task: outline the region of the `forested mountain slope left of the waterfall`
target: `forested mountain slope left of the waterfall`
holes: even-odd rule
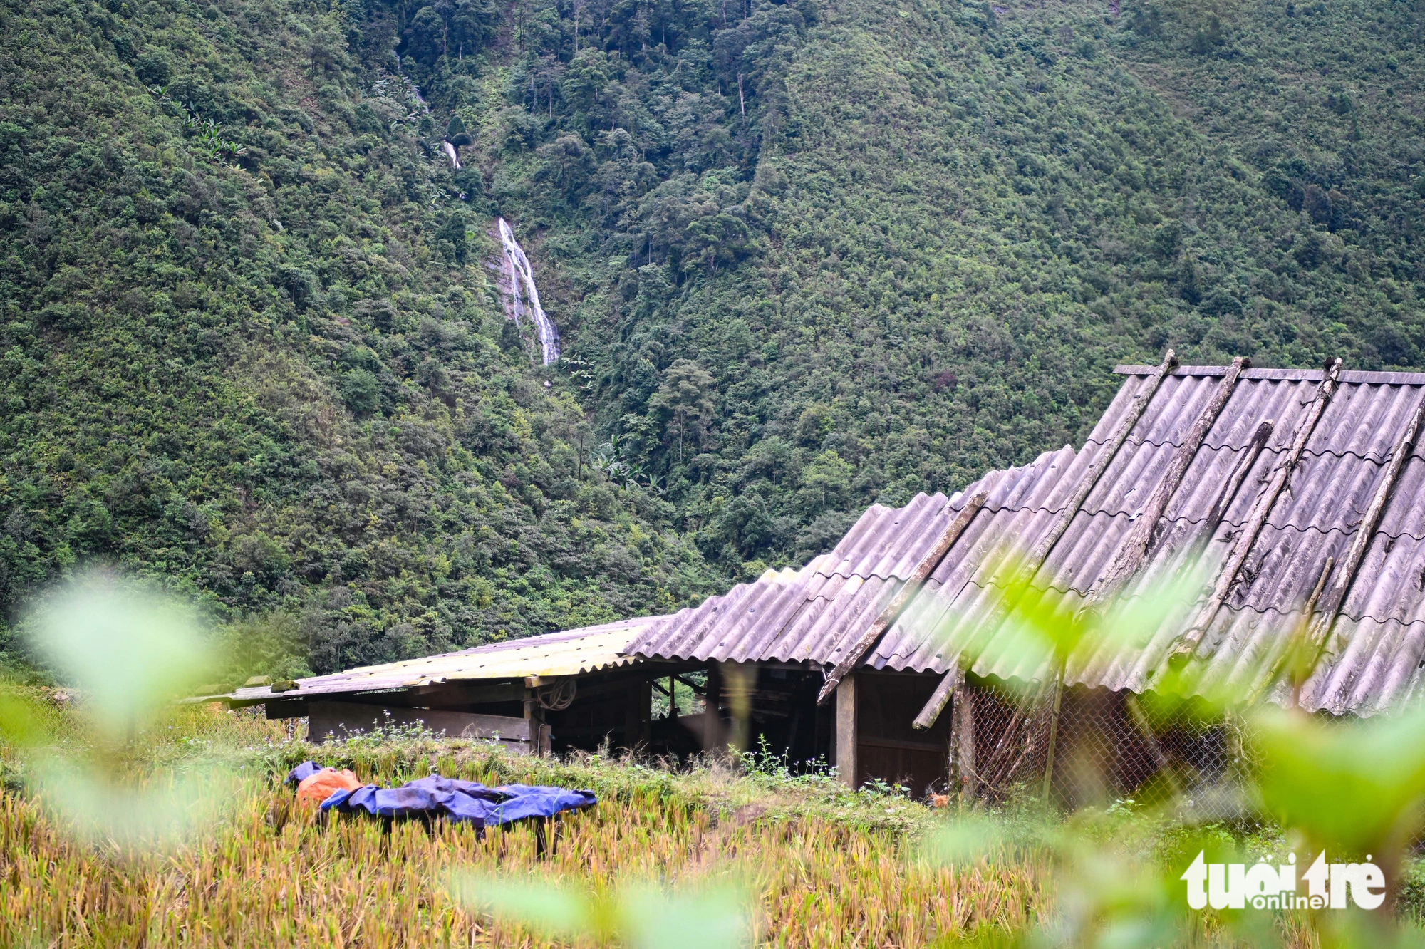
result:
[[[681,606],[714,577],[590,477],[486,222],[341,24],[6,9],[0,601],[100,557],[318,670]]]

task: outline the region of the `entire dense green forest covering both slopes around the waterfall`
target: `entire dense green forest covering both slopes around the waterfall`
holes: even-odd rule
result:
[[[664,611],[1080,439],[1120,361],[1418,366],[1421,23],[6,0],[4,628],[91,560],[234,675]]]

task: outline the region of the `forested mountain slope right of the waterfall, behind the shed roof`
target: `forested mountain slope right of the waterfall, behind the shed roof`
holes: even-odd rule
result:
[[[1082,437],[1167,345],[1421,359],[1418,4],[762,6],[567,67],[557,24],[484,87],[519,105],[450,105],[712,559]]]

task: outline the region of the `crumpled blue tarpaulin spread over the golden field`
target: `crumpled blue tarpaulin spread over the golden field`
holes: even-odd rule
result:
[[[288,781],[301,782],[304,777],[318,769],[318,765],[308,761],[294,768]],[[368,784],[355,791],[336,791],[322,801],[322,811],[341,814],[365,811],[372,816],[396,819],[429,815],[472,822],[476,826],[500,826],[532,816],[549,818],[596,804],[598,798],[591,791],[530,784],[487,788],[475,781],[430,775],[408,781],[399,788],[378,788]]]

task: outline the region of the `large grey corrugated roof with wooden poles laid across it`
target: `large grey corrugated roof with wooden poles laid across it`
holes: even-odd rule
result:
[[[1183,366],[1153,392],[1156,366],[1120,366],[1126,375],[1093,433],[1077,452],[1064,446],[1032,463],[992,472],[953,497],[918,496],[906,507],[871,507],[836,549],[798,571],[770,571],[725,597],[651,624],[630,645],[641,655],[698,660],[804,660],[832,665],[891,601],[965,499],[988,492],[980,512],[955,540],[899,618],[866,654],[875,668],[943,673],[950,664],[980,675],[1045,680],[1050,655],[1006,626],[1002,591],[1042,537],[1067,517],[1066,504],[1112,450],[1120,423],[1150,398],[1126,440],[1033,581],[1066,616],[1103,577],[1168,462],[1223,385],[1223,366]],[[1124,588],[1133,601],[1146,577],[1200,576],[1210,587],[1267,490],[1298,430],[1310,419],[1325,373],[1245,369],[1191,456],[1154,530],[1147,557]],[[1247,557],[1194,653],[1203,688],[1251,697],[1271,694],[1291,630],[1298,628],[1328,559],[1335,574],[1362,514],[1382,486],[1391,455],[1422,410],[1425,375],[1341,372],[1338,386],[1304,443],[1285,489],[1247,547]],[[1271,437],[1223,497],[1234,469],[1250,457],[1260,423]],[[1302,702],[1332,712],[1371,714],[1409,694],[1425,658],[1425,447],[1416,440],[1389,503],[1341,603],[1334,633]],[[1210,512],[1221,503],[1218,523]],[[1194,573],[1196,571],[1196,573]],[[1204,588],[1198,606],[1206,600]],[[1196,614],[1183,604],[1146,641],[1084,644],[1066,664],[1069,683],[1141,691],[1164,674],[1167,657]],[[1280,697],[1280,691],[1277,693]]]

